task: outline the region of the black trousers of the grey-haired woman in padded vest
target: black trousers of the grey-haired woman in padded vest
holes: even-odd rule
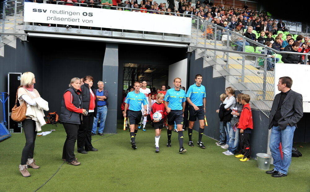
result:
[[[64,149],[62,150],[62,159],[71,162],[75,160],[74,146],[78,138],[78,124],[64,123],[64,129],[67,133],[66,141],[64,141]]]

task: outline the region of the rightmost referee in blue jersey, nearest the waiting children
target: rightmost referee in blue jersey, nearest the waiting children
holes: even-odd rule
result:
[[[202,134],[205,128],[205,113],[206,113],[206,88],[201,85],[202,76],[197,74],[195,76],[195,84],[191,85],[188,88],[186,94],[186,100],[189,104],[188,113],[189,113],[189,126],[188,126],[188,145],[193,147],[192,134],[193,134],[193,126],[196,119],[199,120],[199,136],[197,145],[199,145],[202,149],[206,148],[201,142]]]

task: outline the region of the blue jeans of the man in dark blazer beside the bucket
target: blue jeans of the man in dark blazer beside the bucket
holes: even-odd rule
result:
[[[281,130],[278,126],[272,127],[270,136],[270,151],[273,158],[274,170],[283,174],[287,174],[292,159],[292,146],[295,126],[286,126],[286,129]],[[283,159],[279,150],[279,145],[282,145]]]

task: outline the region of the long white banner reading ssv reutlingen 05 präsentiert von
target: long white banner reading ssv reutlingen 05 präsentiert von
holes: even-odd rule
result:
[[[24,22],[191,35],[192,18],[25,2]]]

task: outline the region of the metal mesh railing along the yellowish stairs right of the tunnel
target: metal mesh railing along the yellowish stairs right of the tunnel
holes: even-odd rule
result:
[[[193,48],[200,49],[199,55],[229,83],[240,92],[249,94],[251,102],[268,117],[274,98],[272,68],[281,61],[276,58],[282,53],[305,55],[305,58],[307,54],[277,51],[199,17],[193,19]],[[206,34],[207,25],[211,25],[213,35]]]

